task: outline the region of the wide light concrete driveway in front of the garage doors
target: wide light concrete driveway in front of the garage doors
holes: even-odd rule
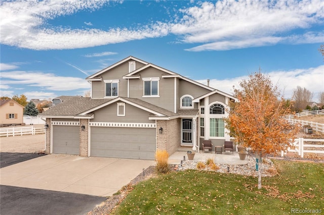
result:
[[[0,169],[1,185],[111,196],[153,160],[50,154]]]

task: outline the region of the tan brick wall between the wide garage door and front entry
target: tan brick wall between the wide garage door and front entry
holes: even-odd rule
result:
[[[159,133],[159,128],[163,133]],[[180,147],[180,119],[156,120],[156,150],[167,150],[171,155]]]

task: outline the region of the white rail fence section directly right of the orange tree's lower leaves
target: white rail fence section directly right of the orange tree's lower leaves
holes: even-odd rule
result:
[[[322,142],[319,145],[305,144],[304,142]],[[288,149],[290,152],[298,152],[298,155],[304,157],[304,153],[324,153],[324,139],[305,139],[300,137],[294,141],[295,149]],[[311,148],[309,148],[311,147]],[[305,149],[307,148],[307,149]],[[281,156],[284,156],[285,152],[281,151]]]

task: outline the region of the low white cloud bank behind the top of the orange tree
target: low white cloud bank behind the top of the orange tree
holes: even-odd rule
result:
[[[324,66],[309,69],[296,69],[291,71],[272,71],[267,73],[274,85],[277,85],[285,98],[291,98],[293,90],[297,86],[305,87],[314,93],[313,100],[317,100],[317,94],[324,91]],[[211,79],[210,86],[223,92],[232,94],[233,86],[239,89],[239,82],[248,79],[247,76],[235,77],[232,79],[218,80]],[[207,80],[197,80],[207,84]]]

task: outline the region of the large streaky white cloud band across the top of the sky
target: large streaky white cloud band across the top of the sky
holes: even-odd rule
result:
[[[139,23],[141,27],[136,29],[71,29],[47,24],[59,16],[96,10],[108,4],[108,0],[3,2],[1,42],[36,50],[73,49],[176,34],[181,42],[203,43],[187,50],[202,51],[317,43],[322,42],[323,36],[319,32],[306,32],[323,23],[324,1],[316,0],[197,2],[195,7],[179,10],[173,21]],[[289,35],[292,30],[300,29],[305,32]]]

